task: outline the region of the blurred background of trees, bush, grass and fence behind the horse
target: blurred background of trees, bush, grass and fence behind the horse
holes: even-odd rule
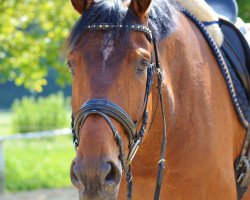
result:
[[[238,4],[250,23],[250,0]],[[60,52],[78,17],[69,0],[0,0],[1,200],[76,199],[69,179],[71,78]],[[66,135],[42,137],[57,133]]]

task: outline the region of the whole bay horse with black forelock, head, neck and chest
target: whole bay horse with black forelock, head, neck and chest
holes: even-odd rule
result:
[[[71,1],[81,14],[65,48],[79,199],[237,199],[234,161],[246,131],[196,25],[172,0]],[[161,72],[149,80],[154,63]]]

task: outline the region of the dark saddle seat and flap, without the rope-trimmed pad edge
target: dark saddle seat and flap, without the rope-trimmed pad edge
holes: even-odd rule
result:
[[[248,97],[250,105],[250,48],[241,31],[234,25],[238,16],[235,0],[206,0],[222,17],[219,26],[224,34],[221,46],[222,55],[227,65],[237,74]]]

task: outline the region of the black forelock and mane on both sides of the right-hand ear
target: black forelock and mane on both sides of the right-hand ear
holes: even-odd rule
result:
[[[70,52],[82,37],[88,25],[138,24],[133,13],[124,6],[124,0],[96,0],[95,3],[80,17],[74,25],[65,44],[65,51]],[[154,32],[157,40],[167,37],[175,30],[174,15],[177,4],[173,0],[152,0],[149,14],[149,28]],[[113,30],[118,34],[119,30]],[[66,53],[67,54],[67,53]]]

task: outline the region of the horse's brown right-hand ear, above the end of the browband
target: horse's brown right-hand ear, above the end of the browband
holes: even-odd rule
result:
[[[146,16],[152,0],[131,0],[130,8],[140,19]]]

